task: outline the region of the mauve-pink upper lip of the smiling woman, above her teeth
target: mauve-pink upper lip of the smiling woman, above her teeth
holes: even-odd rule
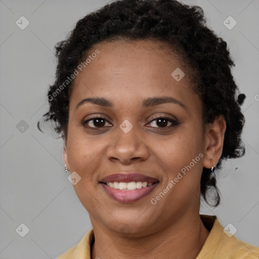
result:
[[[100,180],[101,183],[112,183],[112,182],[124,182],[124,183],[131,183],[131,182],[147,182],[155,183],[158,182],[157,179],[139,174],[137,172],[125,173],[125,172],[118,172],[113,175],[106,176]]]

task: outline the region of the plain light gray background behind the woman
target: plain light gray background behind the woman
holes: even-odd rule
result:
[[[235,226],[238,238],[259,246],[259,1],[184,2],[201,6],[208,26],[228,42],[236,83],[247,96],[242,106],[246,154],[224,164],[219,179],[222,203],[216,209],[203,204],[201,213],[216,214],[224,227]],[[36,123],[47,111],[46,95],[56,66],[54,45],[76,21],[104,4],[0,1],[1,259],[56,258],[91,228],[88,212],[64,171],[62,140],[53,138],[48,128],[49,134],[40,133]],[[30,22],[24,30],[16,25],[21,16]],[[231,30],[223,24],[228,16],[237,21]],[[29,228],[23,238],[16,232],[21,223]]]

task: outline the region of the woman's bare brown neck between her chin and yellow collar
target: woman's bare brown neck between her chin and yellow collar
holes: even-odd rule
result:
[[[209,231],[200,215],[183,215],[159,232],[146,236],[126,237],[93,224],[95,243],[91,258],[190,258],[195,259]]]

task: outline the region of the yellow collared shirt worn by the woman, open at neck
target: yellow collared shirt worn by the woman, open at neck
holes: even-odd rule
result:
[[[196,259],[259,259],[259,247],[249,245],[234,235],[229,237],[217,217],[200,215],[210,233]],[[94,230],[91,229],[81,241],[57,259],[91,259]]]

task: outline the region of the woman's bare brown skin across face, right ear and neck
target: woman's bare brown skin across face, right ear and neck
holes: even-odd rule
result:
[[[201,172],[212,167],[210,158],[218,163],[226,122],[219,117],[203,132],[201,101],[191,88],[185,65],[161,42],[103,42],[89,53],[96,49],[100,54],[74,79],[64,140],[64,162],[81,177],[74,189],[95,231],[92,258],[196,258],[209,234],[199,216]],[[171,76],[176,68],[185,72],[180,81]],[[179,100],[185,108],[175,103],[141,105],[146,98],[162,96]],[[76,109],[89,97],[105,98],[113,107],[84,103]],[[104,118],[104,127],[93,120],[83,126],[90,115]],[[167,127],[161,127],[157,115],[177,119],[179,124],[168,121]],[[128,133],[119,127],[124,120],[133,125]],[[199,153],[203,157],[151,204]],[[99,181],[119,171],[136,171],[158,179],[159,184],[138,201],[118,202]]]

